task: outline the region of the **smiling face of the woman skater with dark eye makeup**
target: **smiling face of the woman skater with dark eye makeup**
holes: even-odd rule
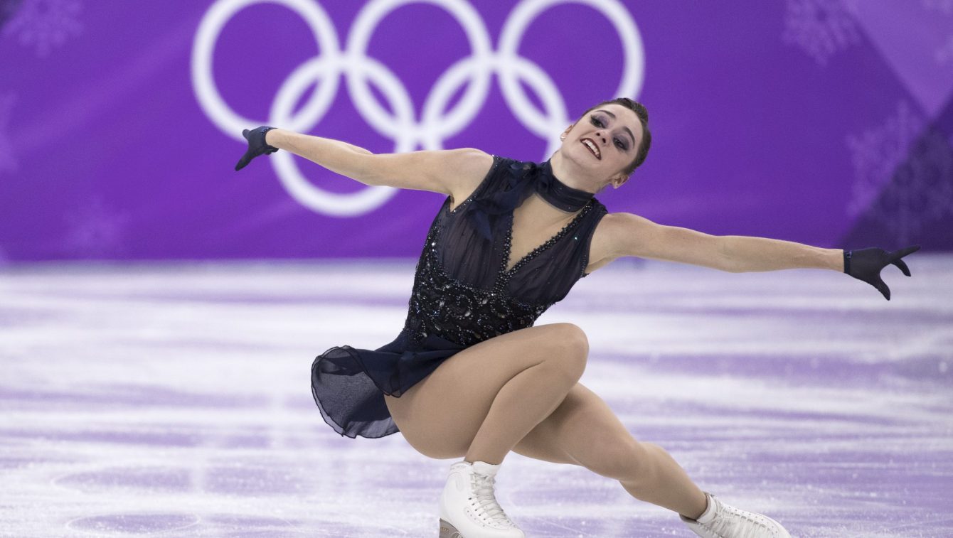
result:
[[[621,185],[628,168],[636,159],[642,137],[642,124],[636,112],[617,105],[590,110],[564,133],[562,158],[573,173],[591,186],[607,182]]]

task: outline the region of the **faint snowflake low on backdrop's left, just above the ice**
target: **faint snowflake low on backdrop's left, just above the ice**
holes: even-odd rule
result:
[[[102,196],[93,196],[66,215],[65,247],[87,256],[113,254],[123,247],[129,216],[108,208]]]

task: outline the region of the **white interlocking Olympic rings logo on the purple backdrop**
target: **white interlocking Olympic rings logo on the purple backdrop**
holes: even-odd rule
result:
[[[319,56],[297,67],[281,85],[269,117],[246,118],[224,101],[213,78],[213,50],[222,29],[240,10],[253,4],[280,4],[299,14],[311,27]],[[457,61],[437,79],[423,106],[422,118],[416,113],[410,94],[395,76],[375,58],[366,54],[371,34],[391,11],[415,3],[433,4],[448,11],[466,32],[471,55]],[[517,55],[523,34],[543,11],[558,4],[582,4],[598,10],[615,26],[624,52],[621,81],[613,96],[638,95],[644,75],[644,50],[639,30],[632,15],[618,0],[523,0],[510,12],[499,37],[497,50],[491,48],[490,36],[479,13],[466,0],[372,0],[361,9],[348,34],[347,47],[338,47],[337,32],[327,12],[316,0],[217,0],[202,17],[192,50],[192,82],[195,95],[205,113],[226,135],[245,142],[241,130],[257,125],[275,125],[299,132],[310,132],[320,122],[334,101],[339,76],[347,78],[348,93],[356,110],[374,130],[394,140],[394,152],[442,149],[443,140],[465,129],[486,101],[490,77],[497,74],[507,107],[528,130],[548,141],[547,153],[559,146],[556,133],[572,119],[552,78],[537,64]],[[374,82],[394,113],[377,102],[368,86]],[[528,84],[545,109],[539,114],[519,85]],[[456,107],[441,114],[463,84],[470,83]],[[294,105],[305,90],[316,89],[297,113]],[[318,189],[294,164],[288,151],[270,157],[285,189],[300,204],[317,212],[354,216],[384,204],[396,189],[369,187],[340,194]]]

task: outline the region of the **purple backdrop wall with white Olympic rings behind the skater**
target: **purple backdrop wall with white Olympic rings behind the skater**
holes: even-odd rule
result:
[[[821,247],[953,249],[953,1],[382,6],[0,0],[0,260],[415,256],[441,195],[360,202],[363,186],[283,152],[234,172],[233,126],[542,161],[582,110],[625,91],[654,146],[599,195],[612,211]],[[425,117],[438,87],[451,109],[476,90],[469,109]],[[286,187],[294,169],[303,194]],[[352,214],[321,209],[349,193],[333,206]]]

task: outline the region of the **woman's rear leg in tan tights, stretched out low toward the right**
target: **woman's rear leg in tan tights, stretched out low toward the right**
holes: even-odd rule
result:
[[[598,395],[577,383],[546,419],[521,439],[518,454],[574,463],[619,481],[633,497],[698,518],[707,506],[701,489],[654,443],[637,441]],[[570,461],[566,461],[566,458]]]

